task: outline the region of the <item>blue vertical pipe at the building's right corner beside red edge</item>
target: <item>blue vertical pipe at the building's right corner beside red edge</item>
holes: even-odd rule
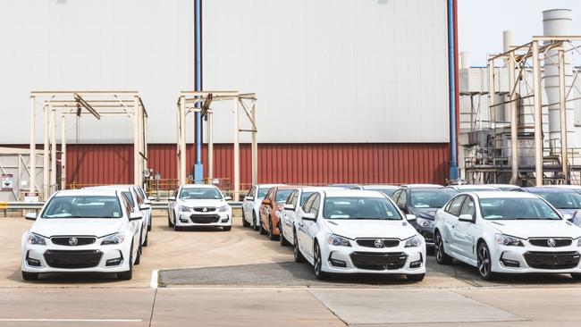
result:
[[[448,0],[448,67],[450,80],[450,180],[458,179],[458,147],[456,130],[456,63],[454,47],[454,4]]]

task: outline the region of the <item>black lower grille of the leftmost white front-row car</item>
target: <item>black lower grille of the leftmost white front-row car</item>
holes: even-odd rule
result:
[[[98,250],[47,250],[46,264],[53,268],[80,269],[96,267],[103,253]]]

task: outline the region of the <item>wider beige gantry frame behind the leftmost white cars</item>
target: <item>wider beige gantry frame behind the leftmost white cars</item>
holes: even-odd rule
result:
[[[61,189],[66,188],[66,117],[69,115],[128,116],[133,120],[133,182],[143,184],[147,167],[147,111],[137,91],[32,91],[30,92],[30,157],[36,155],[36,105],[43,104],[43,182],[41,198],[47,199],[57,189],[56,129],[61,118]],[[30,162],[34,172],[36,163]],[[30,185],[35,185],[30,176]],[[32,192],[33,189],[30,189]],[[36,192],[36,190],[34,190]]]

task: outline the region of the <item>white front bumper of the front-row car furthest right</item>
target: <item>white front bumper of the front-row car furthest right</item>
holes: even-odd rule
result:
[[[581,273],[581,247],[506,247],[491,253],[493,272]]]

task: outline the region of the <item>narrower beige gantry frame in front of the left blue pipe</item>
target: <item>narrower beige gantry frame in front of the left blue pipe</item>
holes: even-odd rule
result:
[[[186,115],[202,113],[207,115],[207,176],[214,179],[214,110],[210,108],[215,101],[232,101],[234,112],[234,201],[240,199],[240,132],[250,132],[252,142],[252,184],[258,180],[258,145],[257,145],[257,95],[254,93],[240,94],[237,91],[182,91],[177,103],[178,122],[178,180],[180,184],[187,183],[186,167]],[[199,104],[199,105],[198,105]],[[250,122],[250,129],[240,129],[240,106]],[[195,138],[194,138],[195,139]]]

